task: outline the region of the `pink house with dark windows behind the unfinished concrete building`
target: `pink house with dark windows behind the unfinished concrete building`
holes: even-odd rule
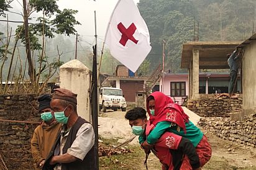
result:
[[[165,73],[165,78],[161,79],[160,86],[162,92],[171,96],[173,101],[183,104],[189,96],[188,73]],[[229,73],[199,73],[199,94],[214,94],[228,92]],[[237,81],[237,91],[241,91],[240,75]]]

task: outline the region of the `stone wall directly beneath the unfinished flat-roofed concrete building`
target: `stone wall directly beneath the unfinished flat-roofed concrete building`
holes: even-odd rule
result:
[[[230,100],[230,101],[229,101]],[[227,96],[216,98],[213,94],[201,96],[188,101],[188,109],[201,117],[229,116],[232,112],[242,110],[242,97],[229,99]]]

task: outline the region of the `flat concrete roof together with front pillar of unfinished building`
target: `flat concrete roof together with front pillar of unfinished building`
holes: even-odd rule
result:
[[[181,68],[188,69],[189,99],[199,97],[199,69],[229,69],[227,54],[241,42],[188,42],[183,44]]]

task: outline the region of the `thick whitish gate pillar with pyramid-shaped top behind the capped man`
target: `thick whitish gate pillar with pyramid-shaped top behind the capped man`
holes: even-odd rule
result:
[[[91,122],[89,89],[91,76],[89,69],[79,60],[71,60],[60,66],[60,87],[77,94],[77,112]]]

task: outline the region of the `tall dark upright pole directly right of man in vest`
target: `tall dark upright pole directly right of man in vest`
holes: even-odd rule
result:
[[[95,38],[96,44],[93,47],[93,78],[92,78],[92,96],[91,96],[91,115],[92,115],[92,123],[93,130],[95,133],[95,141],[94,141],[94,168],[95,170],[99,169],[99,153],[98,153],[98,80],[97,80],[97,32],[96,32],[96,11],[94,11],[94,20],[95,20]],[[92,160],[93,161],[93,160]]]

